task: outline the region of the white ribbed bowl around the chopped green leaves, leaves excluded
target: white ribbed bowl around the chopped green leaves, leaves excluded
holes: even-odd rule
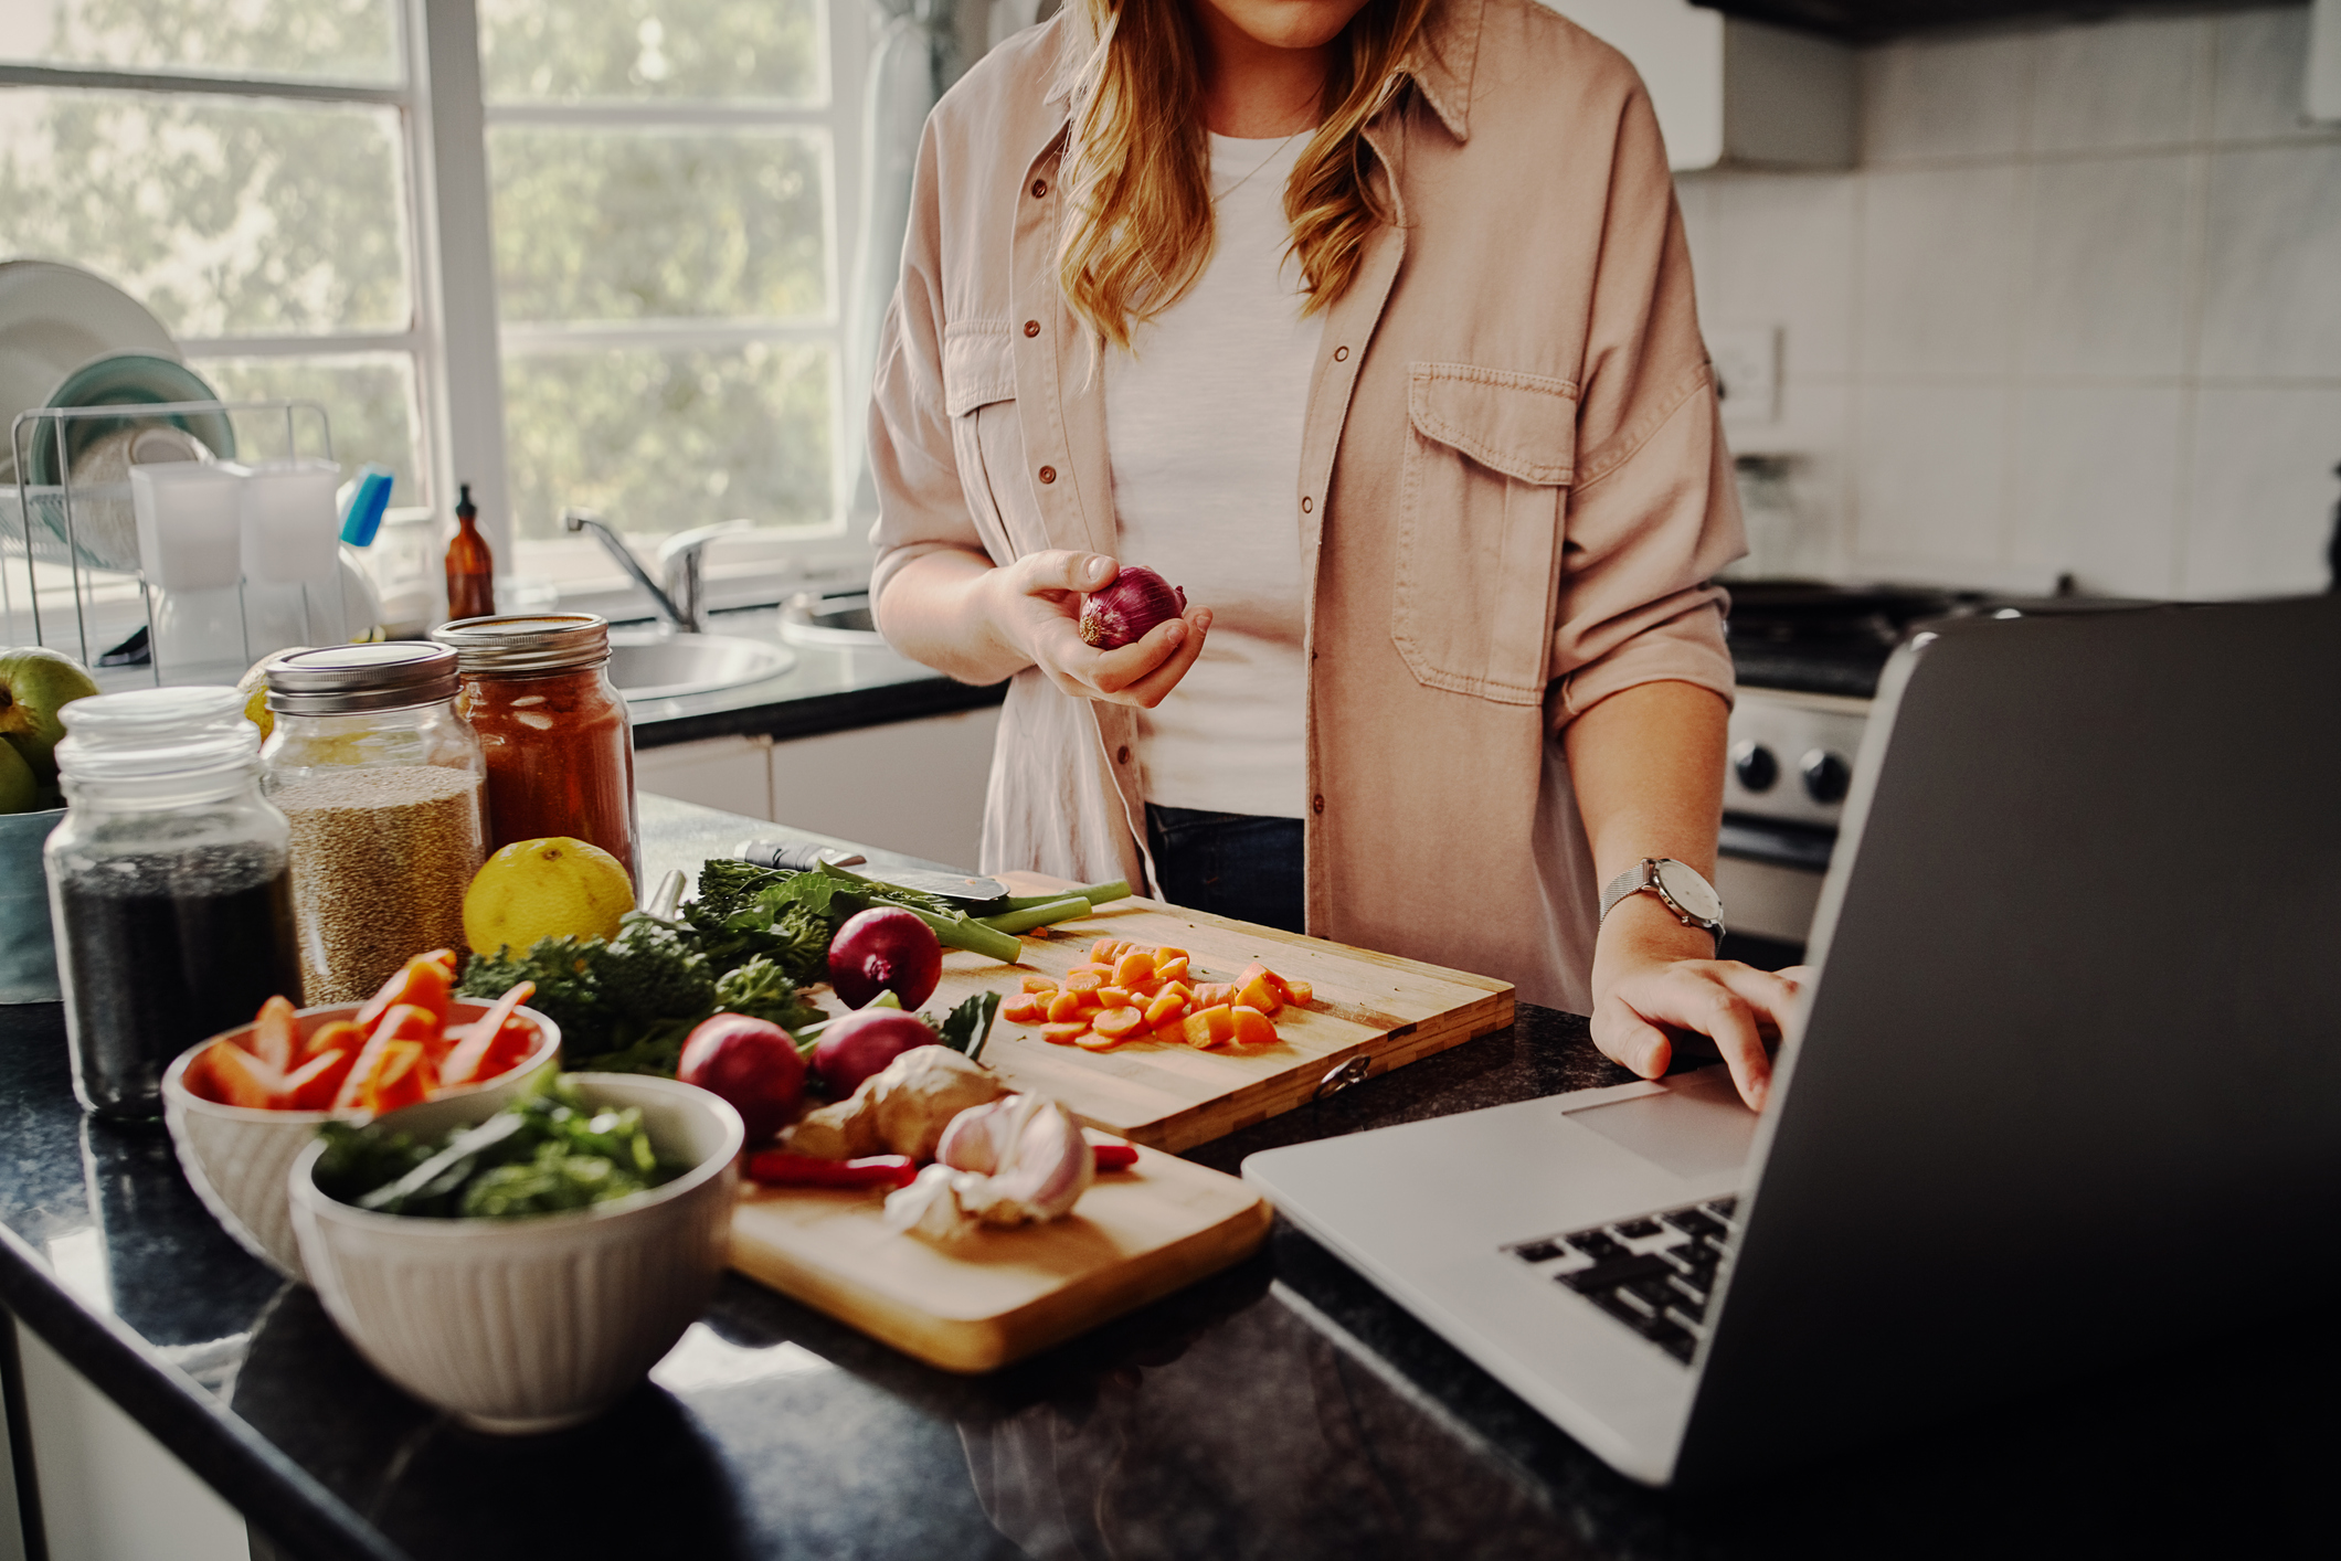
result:
[[[730,1254],[740,1114],[674,1079],[571,1077],[595,1105],[639,1105],[658,1154],[691,1170],[564,1215],[424,1219],[328,1198],[323,1144],[293,1161],[293,1229],[325,1313],[377,1371],[478,1430],[590,1421],[707,1311]],[[445,1098],[382,1121],[435,1140],[494,1109]]]

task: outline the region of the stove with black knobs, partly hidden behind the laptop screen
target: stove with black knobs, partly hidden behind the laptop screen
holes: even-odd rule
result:
[[[1913,630],[1941,618],[2142,606],[2079,594],[2069,580],[2058,585],[2053,597],[2006,597],[1929,585],[1730,583],[1739,700],[1723,775],[1716,892],[1735,934],[1805,943],[1877,679]]]

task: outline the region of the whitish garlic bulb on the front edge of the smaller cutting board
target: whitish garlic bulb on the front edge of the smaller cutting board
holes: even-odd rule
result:
[[[885,1201],[897,1231],[964,1236],[979,1224],[1039,1224],[1072,1210],[1098,1156],[1072,1112],[1042,1095],[1009,1095],[960,1112],[936,1163]]]

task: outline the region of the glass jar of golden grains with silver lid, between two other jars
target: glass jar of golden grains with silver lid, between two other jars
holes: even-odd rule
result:
[[[440,646],[295,651],[267,679],[260,763],[293,824],[302,985],[311,1004],[363,1002],[414,955],[464,948],[487,763]]]

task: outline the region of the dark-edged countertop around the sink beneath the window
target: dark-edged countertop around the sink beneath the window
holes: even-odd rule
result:
[[[637,632],[655,625],[627,623]],[[780,641],[780,608],[714,613],[709,634]],[[796,662],[777,676],[679,700],[627,700],[634,747],[660,749],[707,737],[819,737],[887,721],[918,721],[1000,704],[1007,683],[974,688],[885,646],[787,646]]]

